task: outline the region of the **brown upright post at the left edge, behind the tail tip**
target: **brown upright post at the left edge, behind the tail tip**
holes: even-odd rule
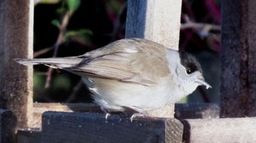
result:
[[[0,108],[10,109],[19,127],[32,122],[32,67],[16,63],[32,58],[33,0],[0,0]]]

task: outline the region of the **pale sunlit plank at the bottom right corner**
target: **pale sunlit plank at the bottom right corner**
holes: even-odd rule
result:
[[[183,123],[186,142],[256,142],[256,118],[187,119]]]

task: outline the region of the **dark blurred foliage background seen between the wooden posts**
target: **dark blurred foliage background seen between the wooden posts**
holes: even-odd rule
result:
[[[34,0],[34,57],[82,55],[124,39],[126,0]],[[220,0],[183,0],[179,49],[196,55],[212,89],[181,102],[219,104]],[[79,76],[34,66],[34,102],[91,102]]]

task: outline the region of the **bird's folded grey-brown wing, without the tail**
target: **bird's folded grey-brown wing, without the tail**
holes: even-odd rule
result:
[[[129,50],[128,50],[129,51]],[[165,57],[143,52],[116,52],[87,58],[68,70],[145,86],[155,85],[158,77],[168,74]]]

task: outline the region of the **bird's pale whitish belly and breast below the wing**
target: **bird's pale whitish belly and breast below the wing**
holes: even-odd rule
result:
[[[109,111],[124,111],[125,107],[148,111],[173,104],[186,96],[170,79],[162,79],[158,86],[143,86],[133,83],[104,79],[84,79],[94,101]],[[100,84],[98,84],[100,83]]]

